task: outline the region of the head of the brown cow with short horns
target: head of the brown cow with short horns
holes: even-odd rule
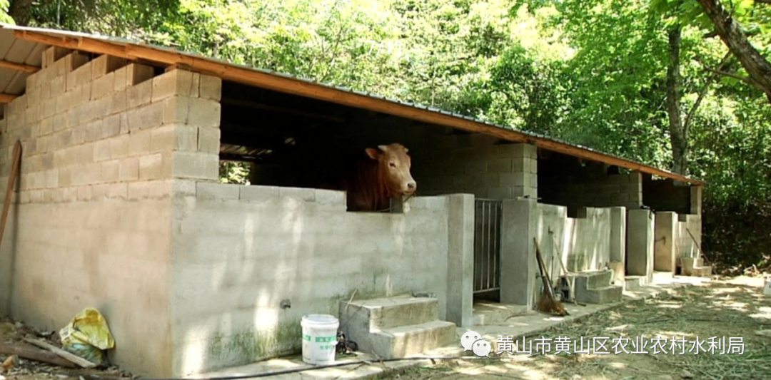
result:
[[[409,149],[401,144],[391,144],[379,145],[377,149],[366,148],[365,152],[378,162],[379,176],[391,194],[412,195],[417,190],[418,184],[409,174],[412,166],[412,160],[407,155]]]

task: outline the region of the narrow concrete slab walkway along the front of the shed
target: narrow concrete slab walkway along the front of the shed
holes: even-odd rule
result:
[[[564,304],[571,315],[565,317],[550,317],[538,312],[530,312],[527,315],[519,315],[507,318],[505,321],[494,322],[493,324],[472,326],[470,328],[457,328],[457,345],[449,345],[438,348],[425,355],[416,355],[418,358],[438,357],[438,358],[456,358],[473,357],[478,358],[470,351],[463,352],[460,345],[460,337],[468,331],[478,332],[487,342],[492,343],[493,350],[497,348],[496,342],[500,336],[510,337],[514,341],[527,335],[534,335],[557,325],[574,322],[581,318],[586,318],[596,312],[614,308],[623,304],[625,301],[638,300],[644,298],[656,297],[664,292],[672,292],[675,288],[683,286],[698,285],[702,282],[709,282],[709,278],[698,278],[688,276],[673,276],[672,278],[658,277],[654,278],[651,284],[635,289],[633,292],[625,291],[621,302],[607,305],[574,305]],[[490,353],[493,356],[493,352]],[[365,363],[362,363],[364,361]],[[368,363],[369,362],[369,363]],[[350,363],[350,364],[346,364]],[[314,379],[362,379],[374,378],[383,375],[385,372],[399,371],[402,369],[415,367],[419,365],[430,365],[429,359],[407,359],[393,362],[379,363],[377,358],[364,353],[357,353],[355,357],[342,358],[336,362],[340,366],[335,368],[310,369],[304,372],[285,373],[274,375],[271,378],[276,380],[308,380]],[[302,362],[301,355],[288,356],[285,358],[276,358],[264,362],[258,362],[251,365],[241,365],[233,368],[225,368],[219,371],[208,372],[201,375],[190,376],[190,378],[210,378],[221,376],[247,376],[261,375],[266,372],[285,372],[289,370],[298,370],[301,368],[313,368],[312,365],[306,365]]]

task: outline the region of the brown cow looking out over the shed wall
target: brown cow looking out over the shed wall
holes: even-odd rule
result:
[[[412,159],[407,152],[401,144],[366,148],[369,159],[356,162],[354,172],[342,181],[348,211],[385,211],[391,198],[414,194],[418,185],[409,173]]]

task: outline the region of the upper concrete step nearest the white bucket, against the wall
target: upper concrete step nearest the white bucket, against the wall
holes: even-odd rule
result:
[[[439,300],[424,297],[388,297],[340,302],[340,319],[372,329],[419,325],[439,319]]]

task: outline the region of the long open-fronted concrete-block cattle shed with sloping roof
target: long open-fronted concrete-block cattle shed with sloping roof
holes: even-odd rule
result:
[[[12,25],[0,28],[0,103],[3,188],[22,147],[0,312],[58,330],[98,308],[110,359],[137,375],[298,352],[301,317],[345,325],[351,299],[436,298],[416,341],[455,345],[455,326],[490,305],[532,312],[536,245],[584,302],[617,301],[654,272],[710,271],[703,182],[463,115]],[[392,142],[409,148],[418,192],[389,212],[348,212],[345,192],[315,185]],[[221,161],[249,162],[250,184],[221,183]],[[343,329],[368,347],[369,332]],[[392,354],[417,345],[397,343]]]

